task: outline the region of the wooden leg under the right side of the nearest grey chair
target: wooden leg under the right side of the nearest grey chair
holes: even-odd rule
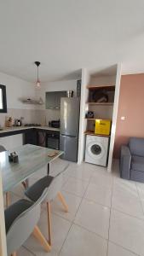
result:
[[[37,240],[41,243],[41,245],[44,247],[46,252],[49,252],[51,250],[51,247],[49,245],[49,242],[46,241],[45,237],[43,236],[42,232],[39,230],[37,226],[35,226],[33,233],[32,233]]]

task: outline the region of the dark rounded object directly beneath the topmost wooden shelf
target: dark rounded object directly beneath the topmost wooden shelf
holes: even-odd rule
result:
[[[108,102],[107,90],[95,90],[92,95],[94,102]]]

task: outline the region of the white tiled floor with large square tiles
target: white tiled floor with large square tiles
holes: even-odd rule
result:
[[[52,174],[60,172],[66,161],[56,160]],[[144,183],[134,183],[114,172],[83,163],[69,163],[61,193],[69,212],[56,198],[51,204],[53,246],[45,253],[30,236],[18,256],[144,256]],[[44,175],[39,172],[31,183]],[[13,194],[14,193],[14,194]],[[23,188],[14,189],[12,201],[23,196]],[[47,212],[43,204],[38,226],[47,237]]]

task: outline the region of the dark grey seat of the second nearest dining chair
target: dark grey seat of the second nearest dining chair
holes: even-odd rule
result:
[[[43,190],[48,188],[54,177],[45,176],[34,183],[30,188],[26,189],[25,195],[32,201],[37,201],[43,194]]]

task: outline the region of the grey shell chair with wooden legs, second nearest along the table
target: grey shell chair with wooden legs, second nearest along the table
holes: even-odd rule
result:
[[[66,168],[65,168],[66,170]],[[62,172],[65,172],[62,171]],[[25,195],[31,201],[37,201],[38,198],[42,195],[43,190],[48,188],[45,201],[47,204],[47,213],[48,213],[48,233],[49,233],[49,245],[51,246],[52,234],[51,234],[51,211],[50,211],[50,202],[58,196],[60,202],[62,203],[65,212],[68,212],[68,207],[63,195],[60,193],[62,187],[62,172],[58,173],[55,177],[45,176],[39,179],[36,183],[25,191]]]

